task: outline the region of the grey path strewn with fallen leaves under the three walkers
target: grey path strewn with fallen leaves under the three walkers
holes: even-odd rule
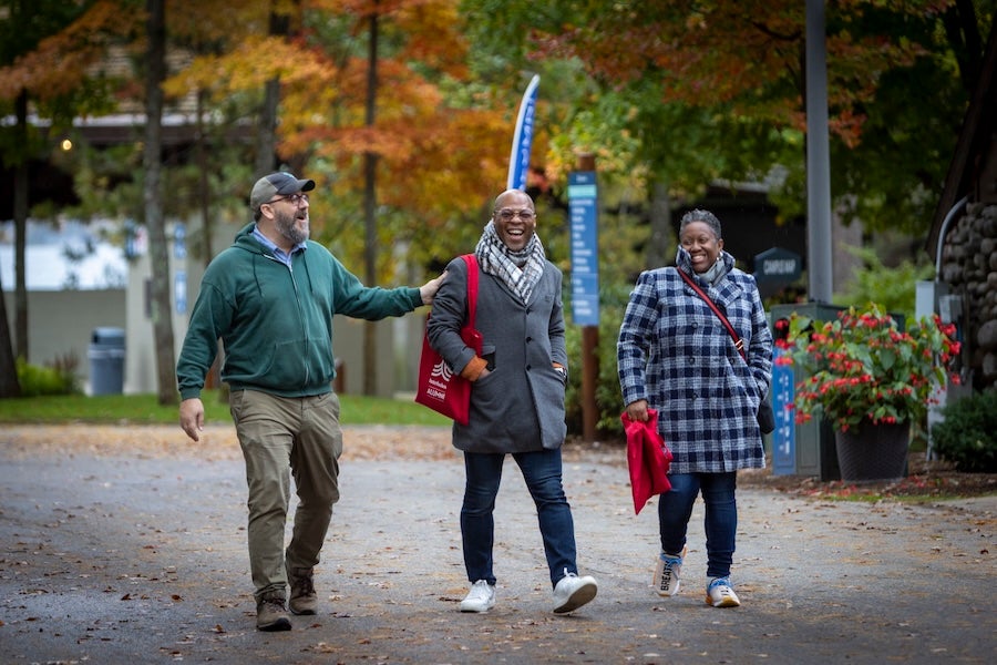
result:
[[[254,628],[245,479],[230,427],[0,433],[3,663],[989,663],[997,498],[927,505],[739,491],[734,582],[702,601],[701,504],[683,591],[650,590],[655,505],[634,515],[619,451],[566,450],[583,573],[549,612],[536,518],[507,464],[498,605],[461,614],[460,457],[445,429],[348,428],[321,607]]]

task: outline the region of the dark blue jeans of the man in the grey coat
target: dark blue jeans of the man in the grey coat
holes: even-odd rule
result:
[[[578,572],[575,564],[575,523],[561,482],[561,449],[516,452],[513,459],[520,466],[536,504],[551,584],[557,584],[565,573]],[[486,580],[489,584],[495,584],[492,571],[492,545],[495,540],[493,512],[504,461],[505,453],[464,453],[466,484],[464,504],[461,507],[461,538],[464,567],[471,582]]]

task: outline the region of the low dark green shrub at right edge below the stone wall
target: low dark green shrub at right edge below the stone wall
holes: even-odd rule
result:
[[[938,456],[963,472],[997,473],[997,390],[946,405],[942,416],[932,427]]]

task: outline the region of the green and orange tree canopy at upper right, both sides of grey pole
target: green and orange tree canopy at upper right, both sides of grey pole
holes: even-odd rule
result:
[[[710,165],[731,181],[762,181],[782,167],[777,203],[787,215],[804,211],[802,3],[562,0],[547,11],[572,22],[537,35],[536,57],[577,59],[607,90],[701,111],[661,125],[661,113],[676,112],[643,105],[651,112],[638,115],[641,135],[658,133],[682,156],[709,145]],[[832,192],[846,219],[927,231],[993,14],[991,1],[829,4]],[[931,93],[914,104],[914,89]],[[709,144],[688,141],[700,135]],[[660,152],[645,154],[652,172],[667,172]]]

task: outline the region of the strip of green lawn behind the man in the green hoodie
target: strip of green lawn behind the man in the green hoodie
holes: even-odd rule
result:
[[[217,391],[202,396],[205,421],[232,422],[228,402]],[[343,424],[446,426],[450,420],[414,401],[340,395]],[[161,406],[155,395],[85,395],[0,399],[0,423],[176,424],[177,406]]]

